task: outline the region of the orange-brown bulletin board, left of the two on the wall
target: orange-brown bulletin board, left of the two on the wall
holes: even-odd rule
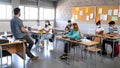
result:
[[[95,22],[96,7],[74,7],[72,8],[72,20],[79,22]]]

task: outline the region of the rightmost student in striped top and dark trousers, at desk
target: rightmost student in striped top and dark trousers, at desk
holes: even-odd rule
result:
[[[118,29],[115,26],[115,22],[114,21],[110,21],[109,22],[109,34],[112,35],[112,36],[116,36],[118,34]],[[103,44],[102,44],[102,54],[104,54],[104,55],[107,54],[106,49],[105,49],[105,43],[108,43],[108,44],[111,45],[112,52],[113,52],[113,46],[114,46],[113,45],[113,40],[112,39],[104,39],[103,40]],[[112,53],[111,53],[111,55],[112,55]]]

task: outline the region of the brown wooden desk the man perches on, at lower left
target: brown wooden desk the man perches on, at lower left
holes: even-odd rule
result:
[[[2,64],[2,50],[6,50],[11,54],[17,54],[24,60],[24,67],[25,67],[25,59],[26,59],[26,46],[25,41],[14,41],[12,43],[3,43],[0,44],[0,58]],[[5,47],[5,48],[2,48]],[[2,68],[2,65],[1,65]]]

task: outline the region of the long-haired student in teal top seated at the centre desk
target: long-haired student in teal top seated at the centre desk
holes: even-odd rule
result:
[[[67,37],[67,38],[71,38],[71,39],[75,39],[75,40],[80,40],[82,36],[81,36],[80,31],[79,31],[77,23],[73,23],[73,29],[69,33],[65,34],[65,36],[63,36],[63,37]],[[62,56],[60,56],[60,59],[67,59],[67,55],[70,52],[69,47],[70,47],[70,45],[68,45],[66,43],[64,46],[64,54]]]

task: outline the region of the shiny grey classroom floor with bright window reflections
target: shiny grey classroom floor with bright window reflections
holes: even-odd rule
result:
[[[37,61],[32,62],[28,57],[25,61],[26,68],[87,68],[86,58],[82,58],[80,55],[80,49],[78,48],[76,51],[76,57],[73,57],[74,50],[71,49],[70,59],[68,61],[60,60],[59,56],[63,53],[63,42],[58,42],[58,46],[55,50],[51,50],[52,44],[49,44],[48,49],[42,49],[40,52],[33,47],[32,52],[34,55],[39,56]],[[89,55],[89,66],[88,68],[94,68],[94,54],[92,56]],[[9,57],[9,65],[5,65],[6,58],[4,59],[3,68],[23,68],[23,60],[17,55],[12,56],[12,66],[11,60]],[[120,68],[120,57],[111,59],[110,57],[102,57],[97,55],[97,66],[96,68]]]

